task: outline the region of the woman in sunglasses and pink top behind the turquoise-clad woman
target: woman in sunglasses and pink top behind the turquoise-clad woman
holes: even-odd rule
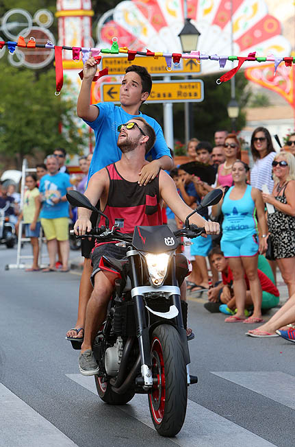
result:
[[[241,158],[240,141],[235,134],[228,134],[225,138],[224,145],[225,162],[219,165],[217,171],[217,187],[231,186],[233,184],[233,176],[231,175],[231,168],[235,160]]]

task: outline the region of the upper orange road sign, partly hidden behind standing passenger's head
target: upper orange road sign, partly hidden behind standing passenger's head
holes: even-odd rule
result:
[[[201,64],[196,62],[196,59],[181,59],[176,67],[172,64],[172,71],[166,70],[165,58],[155,59],[151,56],[136,56],[132,62],[127,60],[127,55],[116,57],[103,56],[102,64],[103,69],[109,69],[109,75],[124,75],[125,69],[131,64],[146,67],[146,70],[149,71],[151,76],[192,75],[201,72]]]

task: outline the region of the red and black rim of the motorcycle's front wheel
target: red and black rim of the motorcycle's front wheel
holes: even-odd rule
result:
[[[165,409],[165,368],[162,346],[155,337],[151,347],[151,361],[153,379],[157,379],[157,383],[153,385],[153,388],[149,394],[149,400],[151,404],[151,411],[153,413],[153,419],[157,424],[161,424],[164,418]]]

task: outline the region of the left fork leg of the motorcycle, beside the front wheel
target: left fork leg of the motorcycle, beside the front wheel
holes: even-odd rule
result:
[[[139,287],[136,263],[134,255],[130,256],[131,265],[131,286]],[[153,376],[151,372],[151,350],[149,339],[149,328],[146,326],[145,306],[142,295],[133,296],[133,304],[136,316],[137,337],[140,348],[141,374],[144,379],[144,389],[153,386]]]

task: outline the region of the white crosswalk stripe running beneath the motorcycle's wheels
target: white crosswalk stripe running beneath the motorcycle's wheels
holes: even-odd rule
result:
[[[86,377],[81,374],[66,374],[66,376],[97,395],[93,377]],[[154,429],[146,395],[136,394],[130,404],[117,408]],[[190,399],[188,399],[188,409],[183,428],[177,437],[169,439],[181,447],[275,447],[266,439],[222,418],[222,416]]]

